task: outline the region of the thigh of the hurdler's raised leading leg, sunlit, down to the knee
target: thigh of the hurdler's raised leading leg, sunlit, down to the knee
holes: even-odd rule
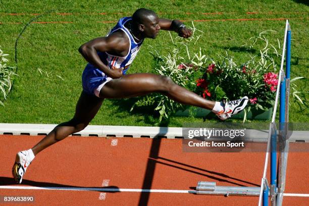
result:
[[[167,77],[150,73],[128,74],[106,83],[100,90],[100,96],[124,98],[160,92],[165,89],[167,80]]]

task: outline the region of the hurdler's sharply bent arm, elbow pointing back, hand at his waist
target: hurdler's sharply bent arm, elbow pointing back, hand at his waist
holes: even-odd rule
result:
[[[95,38],[87,43],[81,45],[78,49],[79,53],[85,58],[87,62],[100,69],[113,79],[117,79],[122,76],[122,69],[109,68],[102,63],[97,52],[109,52],[122,54],[128,50],[128,43],[123,40],[119,34],[112,34],[107,37]]]

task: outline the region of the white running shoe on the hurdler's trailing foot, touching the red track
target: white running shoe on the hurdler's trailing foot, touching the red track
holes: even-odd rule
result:
[[[34,156],[30,154],[29,150],[20,151],[16,154],[15,164],[12,169],[14,180],[20,184],[23,180],[23,176],[26,173],[28,166],[31,164],[31,161],[34,159]]]

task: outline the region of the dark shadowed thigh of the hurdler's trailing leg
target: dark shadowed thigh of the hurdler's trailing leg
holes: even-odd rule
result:
[[[89,123],[102,105],[103,98],[82,91],[75,109],[74,119],[79,122]]]

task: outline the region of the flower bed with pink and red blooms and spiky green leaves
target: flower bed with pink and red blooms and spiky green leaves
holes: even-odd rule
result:
[[[244,121],[246,118],[256,119],[260,118],[259,113],[269,111],[274,105],[280,69],[277,62],[281,59],[278,53],[279,48],[276,48],[265,37],[274,31],[264,31],[259,36],[250,38],[249,43],[243,45],[244,50],[252,50],[257,41],[264,42],[263,48],[255,49],[259,51],[258,54],[249,56],[248,60],[243,63],[238,63],[227,52],[225,55],[218,55],[216,59],[202,54],[201,48],[199,52],[192,54],[190,44],[195,44],[201,36],[201,34],[196,34],[201,31],[198,31],[194,25],[192,30],[193,36],[188,40],[172,38],[174,47],[169,48],[167,56],[160,55],[158,52],[151,53],[155,60],[153,72],[169,76],[178,85],[210,100],[233,100],[248,96],[250,102],[243,115],[234,116],[235,118],[242,117]],[[280,43],[277,42],[277,44],[280,47]],[[295,79],[299,78],[302,77]],[[176,115],[185,114],[185,116],[192,114],[197,117],[207,115],[206,110],[202,109],[191,109],[191,112],[183,113],[181,111],[188,109],[188,106],[180,105],[162,94],[151,94],[139,98],[132,110],[141,106],[156,106],[155,110],[160,113],[159,121],[175,113]],[[252,109],[254,111],[250,112]],[[262,112],[258,112],[259,110]]]

